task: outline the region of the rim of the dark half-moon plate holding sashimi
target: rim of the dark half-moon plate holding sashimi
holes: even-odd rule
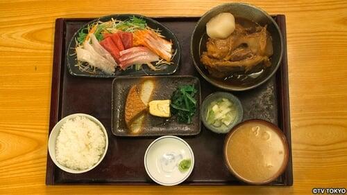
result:
[[[69,60],[67,60],[67,57],[69,57],[69,49],[71,48],[71,43],[72,41],[74,40],[73,38],[76,37],[76,35],[78,34],[78,32],[81,30],[81,28],[84,28],[85,26],[89,25],[89,24],[92,24],[96,21],[100,21],[101,19],[105,19],[107,17],[113,17],[113,18],[117,18],[117,17],[121,17],[121,16],[124,16],[124,17],[132,17],[132,16],[135,16],[135,17],[142,17],[146,20],[149,20],[151,22],[153,22],[154,24],[157,24],[158,26],[161,26],[164,30],[167,30],[167,32],[169,32],[171,35],[173,35],[174,39],[177,41],[177,50],[179,51],[178,52],[178,59],[177,59],[177,66],[176,68],[174,69],[174,71],[172,72],[169,72],[169,73],[157,73],[157,74],[144,74],[144,75],[82,75],[82,74],[78,74],[78,73],[75,73],[74,71],[71,70],[71,64],[69,62]],[[176,37],[175,33],[172,32],[169,28],[167,28],[167,26],[165,26],[164,24],[161,24],[159,21],[156,21],[155,19],[152,19],[151,17],[146,17],[144,15],[137,15],[137,14],[116,14],[116,15],[105,15],[105,16],[102,16],[102,17],[98,17],[96,19],[93,19],[92,21],[89,21],[87,24],[84,24],[81,28],[78,28],[78,30],[74,33],[74,35],[72,35],[72,38],[70,39],[69,41],[69,45],[67,46],[67,51],[66,51],[66,61],[67,61],[67,69],[70,73],[70,75],[74,75],[74,76],[78,76],[78,77],[97,77],[97,78],[115,78],[115,77],[119,77],[119,76],[156,76],[156,75],[173,75],[174,73],[176,73],[176,71],[178,70],[178,66],[180,66],[180,57],[181,57],[181,48],[180,48],[180,41],[178,41],[178,38]]]

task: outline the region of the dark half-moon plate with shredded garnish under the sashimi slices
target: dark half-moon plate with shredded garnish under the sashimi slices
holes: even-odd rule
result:
[[[107,30],[105,30],[105,28],[98,28],[99,26],[101,26],[100,24],[105,24],[108,21],[110,21],[111,25],[108,26],[109,28]],[[117,23],[115,21],[125,21],[125,22],[124,23]],[[130,33],[138,32],[137,30],[151,30],[151,32],[156,32],[157,33],[156,35],[159,35],[162,39],[164,39],[166,41],[166,43],[171,44],[171,51],[169,52],[170,55],[169,56],[165,55],[165,53],[162,52],[162,50],[158,49],[158,48],[160,48],[160,46],[158,46],[158,42],[157,43],[155,43],[155,42],[151,43],[150,42],[149,44],[147,44],[145,42],[144,44],[143,43],[139,44],[138,43],[139,41],[137,41],[137,40],[139,40],[139,38],[135,39],[135,37],[139,37],[139,36],[136,36],[135,34],[133,34],[134,40],[133,40],[132,48],[134,50],[136,50],[134,47],[141,47],[141,48],[145,48],[145,49],[148,48],[149,53],[152,52],[152,54],[158,56],[158,60],[153,61],[150,64],[148,64],[148,63],[131,64],[131,65],[126,65],[126,67],[121,67],[121,64],[124,65],[124,62],[126,62],[126,61],[124,61],[124,60],[121,61],[120,59],[126,59],[128,56],[121,56],[117,59],[117,57],[114,55],[113,51],[108,50],[109,57],[111,54],[112,55],[111,58],[113,58],[115,60],[114,61],[116,63],[115,68],[114,68],[114,71],[111,71],[112,73],[110,73],[110,71],[108,73],[107,73],[107,71],[102,71],[101,68],[97,68],[96,66],[92,66],[88,62],[81,62],[81,60],[78,60],[78,56],[76,54],[76,48],[78,46],[83,47],[84,46],[83,43],[85,42],[86,39],[90,40],[88,42],[90,43],[91,46],[94,47],[94,44],[91,40],[92,38],[90,36],[90,33],[88,33],[88,32],[92,32],[91,30],[95,26],[95,24],[98,24],[98,25],[96,26],[96,28],[94,28],[95,31],[93,31],[94,32],[93,35],[95,35],[95,37],[99,41],[100,45],[102,44],[101,41],[103,41],[103,39],[108,38],[108,37],[106,37],[107,33],[104,33],[104,32],[109,32],[108,30],[110,30],[110,34],[117,33],[117,32],[120,32],[122,30],[124,30],[124,32],[130,32]],[[115,24],[117,24],[117,26],[115,26]],[[144,25],[146,27],[144,27],[144,28],[141,27]],[[131,28],[134,28],[134,30]],[[102,31],[103,31],[102,33],[98,32],[98,31],[101,31],[100,29],[102,29]],[[87,38],[85,38],[85,37],[87,37]],[[114,39],[112,38],[112,40],[114,40]],[[140,39],[140,40],[142,40],[142,39]],[[124,41],[124,40],[121,40],[121,41]],[[114,42],[112,42],[112,43],[114,43]],[[103,46],[103,48],[105,48],[104,45],[102,45],[102,46]],[[94,50],[97,51],[95,48],[94,48]],[[106,50],[106,48],[105,48],[105,50]],[[139,58],[136,57],[139,55],[139,53],[136,53],[136,52],[137,52],[137,50],[135,52],[133,52],[133,56],[131,56],[131,57],[135,56],[135,58],[133,58],[133,61],[130,61],[130,63],[131,62],[134,62],[134,63],[143,62],[142,59],[144,59],[144,61],[146,61],[146,59],[148,59],[148,56],[146,56],[146,54],[144,54],[144,55],[142,55],[142,58],[139,60]],[[143,51],[140,50],[139,52],[141,53]],[[121,51],[120,51],[120,53],[121,53]],[[126,52],[124,52],[124,53],[126,53]],[[79,55],[79,56],[81,56],[81,55]],[[98,56],[100,57],[100,55],[98,55]],[[87,56],[87,58],[88,57],[90,58],[90,56]],[[94,56],[92,56],[92,57],[94,57]],[[80,57],[80,59],[81,59],[81,57]],[[153,60],[153,58],[152,58],[152,60]],[[94,62],[96,64],[100,64],[99,62],[101,62],[101,61],[102,60],[100,60],[99,58],[92,59],[92,62]],[[169,28],[167,28],[166,26],[160,24],[158,21],[155,21],[154,19],[142,16],[142,15],[133,15],[133,14],[108,15],[105,17],[100,17],[98,19],[94,19],[94,20],[90,21],[89,23],[85,24],[84,26],[82,26],[74,34],[74,36],[69,41],[69,46],[67,48],[67,68],[69,70],[69,73],[71,75],[74,75],[74,76],[110,78],[110,77],[117,77],[119,75],[136,75],[136,76],[141,76],[141,75],[171,75],[171,74],[174,74],[176,72],[179,64],[180,64],[180,44],[178,43],[178,39],[174,35],[174,33],[171,32],[171,30],[169,30]]]

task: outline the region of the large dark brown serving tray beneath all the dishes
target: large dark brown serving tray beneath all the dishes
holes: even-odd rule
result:
[[[196,72],[189,56],[189,40],[198,17],[158,18],[178,37],[182,48],[180,68],[176,75],[194,75],[201,82],[201,100],[214,91],[212,86]],[[276,15],[284,42],[285,16]],[[87,113],[98,118],[108,131],[108,152],[99,166],[85,174],[68,174],[56,167],[47,156],[46,184],[107,184],[153,185],[144,169],[146,147],[155,137],[126,138],[113,136],[111,131],[112,79],[74,77],[67,71],[65,50],[71,35],[91,19],[57,19],[54,41],[51,113],[49,132],[62,117],[71,113]],[[280,127],[289,142],[289,164],[286,171],[268,185],[292,185],[291,137],[289,120],[287,48],[282,64],[271,80],[250,91],[233,93],[242,101],[244,120],[260,118]],[[225,135],[212,133],[201,127],[197,136],[185,136],[194,151],[195,165],[183,185],[245,185],[230,174],[223,163]]]

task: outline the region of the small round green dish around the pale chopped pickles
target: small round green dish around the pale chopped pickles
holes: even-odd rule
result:
[[[214,100],[220,100],[222,98],[226,98],[227,100],[230,100],[232,102],[233,106],[235,107],[235,118],[232,120],[228,126],[223,124],[221,127],[214,127],[214,125],[209,124],[206,120],[206,116],[208,114],[208,106],[214,101]],[[242,109],[242,104],[239,101],[237,97],[232,95],[231,93],[226,92],[216,92],[208,95],[208,97],[203,100],[203,104],[201,105],[201,120],[203,121],[203,124],[206,128],[210,129],[214,133],[228,133],[232,127],[234,127],[236,124],[239,124],[239,122],[242,122],[242,118],[244,115],[244,109]]]

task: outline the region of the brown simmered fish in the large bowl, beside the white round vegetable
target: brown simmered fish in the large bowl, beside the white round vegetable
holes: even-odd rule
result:
[[[263,68],[271,66],[273,46],[266,26],[259,26],[253,21],[240,24],[239,21],[235,19],[235,30],[226,39],[208,38],[201,62],[213,77],[225,78],[235,72],[248,73],[258,65]]]

